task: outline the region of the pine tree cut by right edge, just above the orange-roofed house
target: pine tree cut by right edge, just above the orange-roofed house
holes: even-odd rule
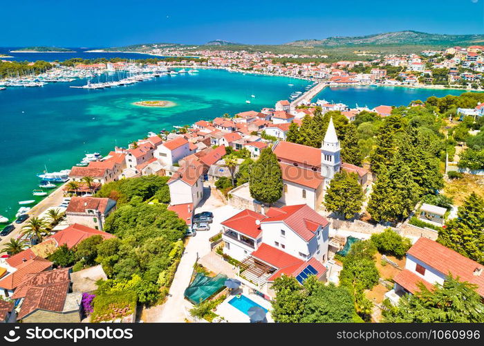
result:
[[[472,194],[452,219],[438,232],[437,242],[484,264],[484,199]]]

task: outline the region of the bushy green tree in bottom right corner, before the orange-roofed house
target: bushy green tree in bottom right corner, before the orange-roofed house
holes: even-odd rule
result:
[[[384,322],[484,322],[484,304],[476,285],[460,282],[450,275],[443,285],[429,290],[421,282],[420,291],[400,298],[397,307],[384,312]]]

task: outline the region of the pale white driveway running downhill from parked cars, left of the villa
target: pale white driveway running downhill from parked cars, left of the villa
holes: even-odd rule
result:
[[[201,202],[195,211],[213,212],[214,221],[210,224],[209,231],[197,232],[195,237],[189,239],[169,289],[167,301],[160,307],[159,311],[150,313],[147,322],[185,322],[185,312],[192,308],[192,304],[185,300],[183,293],[192,279],[193,266],[198,258],[210,253],[208,239],[221,231],[221,222],[241,210],[225,206],[221,197],[215,192],[209,193],[208,197]]]

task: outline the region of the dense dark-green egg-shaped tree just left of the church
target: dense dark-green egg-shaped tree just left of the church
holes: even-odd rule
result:
[[[270,148],[263,149],[252,166],[249,178],[250,196],[263,203],[274,203],[282,197],[282,171]]]

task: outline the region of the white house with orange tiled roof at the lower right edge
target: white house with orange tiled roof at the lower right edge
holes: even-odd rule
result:
[[[484,266],[470,260],[456,251],[420,237],[407,252],[405,268],[393,280],[393,294],[400,296],[405,293],[420,291],[421,282],[431,289],[434,284],[443,284],[451,273],[461,281],[477,285],[477,293],[484,298]],[[395,300],[392,300],[395,302]]]

